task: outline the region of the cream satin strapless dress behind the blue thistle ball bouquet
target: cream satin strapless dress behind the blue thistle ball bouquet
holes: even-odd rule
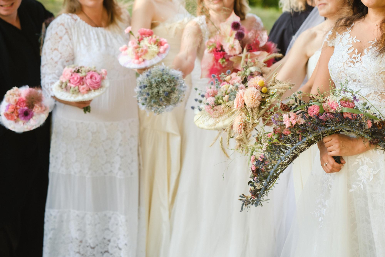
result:
[[[174,1],[176,2],[176,1]],[[155,35],[167,39],[170,52],[162,62],[171,66],[181,46],[182,32],[192,16],[180,4],[179,13],[152,28]],[[189,76],[185,79],[190,87]],[[186,92],[186,95],[188,95]],[[187,98],[187,96],[186,96]],[[170,241],[170,213],[181,168],[181,138],[185,103],[171,112],[156,115],[139,112],[140,169],[140,231],[139,250],[149,257],[167,256]]]

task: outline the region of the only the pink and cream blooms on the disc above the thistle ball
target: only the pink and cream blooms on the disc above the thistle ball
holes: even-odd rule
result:
[[[131,27],[127,27],[126,33],[131,33]],[[133,35],[133,34],[132,34]],[[151,29],[141,28],[135,39],[119,48],[122,54],[129,55],[132,63],[143,64],[145,60],[151,60],[158,54],[164,54],[170,45],[167,40],[154,35]]]

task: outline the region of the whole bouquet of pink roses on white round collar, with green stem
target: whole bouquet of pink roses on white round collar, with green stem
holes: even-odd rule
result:
[[[100,96],[109,87],[107,71],[97,71],[95,67],[70,65],[64,68],[59,81],[52,88],[55,97],[63,101],[89,101]],[[90,112],[90,106],[84,113]]]

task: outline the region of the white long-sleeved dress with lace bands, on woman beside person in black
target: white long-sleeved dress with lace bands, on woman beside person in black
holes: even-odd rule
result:
[[[138,111],[135,73],[119,65],[128,36],[92,27],[75,14],[49,26],[42,52],[42,87],[65,66],[107,69],[110,87],[91,113],[56,102],[52,117],[44,257],[134,257],[138,226]]]

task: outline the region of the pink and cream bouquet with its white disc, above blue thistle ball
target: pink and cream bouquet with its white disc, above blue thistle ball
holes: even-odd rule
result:
[[[123,45],[119,50],[122,52],[119,57],[119,63],[129,69],[144,69],[157,64],[166,57],[170,50],[167,40],[154,35],[151,29],[139,29],[135,36],[131,27],[124,30],[127,34],[135,37]]]

